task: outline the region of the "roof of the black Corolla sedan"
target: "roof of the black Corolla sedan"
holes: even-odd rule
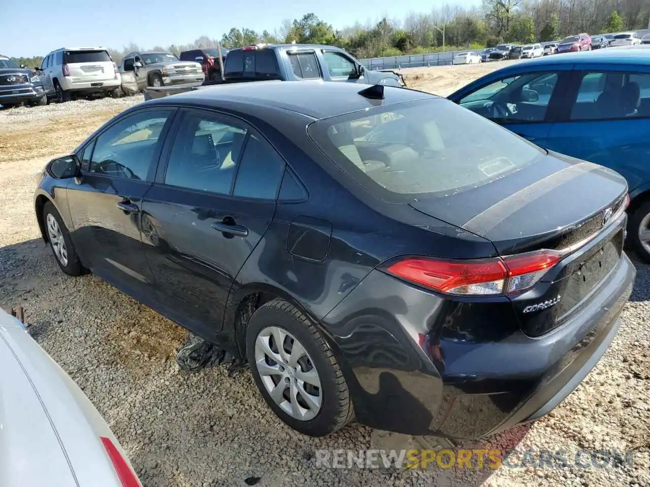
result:
[[[255,111],[260,106],[289,110],[315,119],[330,118],[373,106],[385,106],[404,101],[439,98],[425,92],[384,86],[384,99],[363,97],[359,92],[369,84],[333,81],[253,81],[209,86],[172,97],[146,102],[162,105],[205,106],[219,108],[236,102],[237,111]]]

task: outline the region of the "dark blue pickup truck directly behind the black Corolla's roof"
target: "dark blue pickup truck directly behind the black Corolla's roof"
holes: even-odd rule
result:
[[[346,51],[331,45],[257,44],[228,51],[223,79],[146,88],[144,99],[198,90],[215,84],[313,79],[406,86],[399,73],[367,69]]]

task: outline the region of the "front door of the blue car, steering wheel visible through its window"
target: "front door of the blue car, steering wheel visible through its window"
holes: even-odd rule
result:
[[[449,99],[545,147],[573,64],[526,64],[499,69]]]

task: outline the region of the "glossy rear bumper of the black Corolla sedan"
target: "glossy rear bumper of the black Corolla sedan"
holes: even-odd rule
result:
[[[476,439],[544,416],[614,340],[636,270],[623,255],[580,314],[530,338],[510,303],[472,305],[372,271],[322,320],[360,423]]]

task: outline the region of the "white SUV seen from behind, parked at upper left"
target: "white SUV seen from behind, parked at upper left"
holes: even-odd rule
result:
[[[43,60],[38,77],[49,97],[68,101],[73,94],[120,96],[122,77],[103,47],[63,47]]]

